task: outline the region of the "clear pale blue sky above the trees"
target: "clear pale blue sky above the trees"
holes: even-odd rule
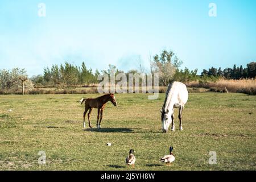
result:
[[[39,3],[46,17],[39,17]],[[217,5],[210,17],[209,3]],[[148,68],[148,55],[172,49],[182,68],[233,67],[256,60],[256,1],[0,1],[0,69],[43,73],[82,61],[95,70],[115,64]]]

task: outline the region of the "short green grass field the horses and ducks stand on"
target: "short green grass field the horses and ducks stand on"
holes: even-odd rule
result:
[[[162,133],[164,94],[115,94],[108,103],[102,129],[82,128],[81,97],[99,94],[0,96],[0,169],[126,170],[130,148],[137,153],[135,170],[255,170],[256,96],[239,93],[190,93],[183,131]],[[11,109],[11,111],[10,111]],[[88,122],[86,122],[88,126]],[[106,146],[106,143],[112,146]],[[159,163],[174,146],[172,167]],[[46,165],[39,165],[39,151]],[[210,165],[209,151],[217,152]],[[131,169],[129,169],[131,170]]]

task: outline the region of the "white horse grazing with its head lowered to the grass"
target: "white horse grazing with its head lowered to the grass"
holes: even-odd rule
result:
[[[182,129],[182,110],[184,105],[188,101],[188,90],[185,84],[174,81],[168,85],[166,91],[166,100],[164,100],[164,105],[160,112],[162,113],[162,129],[164,133],[167,133],[169,126],[172,122],[171,130],[175,130],[174,126],[174,108],[179,108],[179,119],[180,119],[180,130]],[[170,112],[169,112],[170,111]]]

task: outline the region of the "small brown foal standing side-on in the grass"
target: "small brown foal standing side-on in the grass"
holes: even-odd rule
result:
[[[92,128],[92,125],[90,125],[90,113],[92,113],[93,108],[98,109],[97,128],[98,129],[101,128],[101,120],[103,118],[103,110],[104,110],[104,108],[106,106],[106,103],[108,101],[112,102],[112,104],[114,106],[117,106],[117,101],[115,100],[115,96],[112,93],[111,94],[105,94],[104,96],[97,97],[97,98],[82,98],[81,104],[82,104],[82,102],[84,102],[84,105],[85,105],[84,128],[85,128],[85,115],[86,115],[88,110],[89,110],[89,113],[88,113],[89,127]],[[100,118],[100,114],[101,114],[101,118]],[[99,123],[98,119],[100,119],[100,123]]]

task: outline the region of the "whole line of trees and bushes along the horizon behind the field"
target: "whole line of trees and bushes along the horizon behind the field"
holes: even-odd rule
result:
[[[169,82],[181,81],[217,81],[219,78],[226,79],[241,79],[241,78],[255,78],[256,77],[256,62],[251,62],[243,68],[242,65],[237,67],[236,64],[233,68],[209,68],[204,69],[201,74],[198,70],[189,70],[188,68],[180,69],[181,61],[173,51],[163,50],[159,54],[150,56],[150,71],[145,72],[141,63],[139,71],[132,69],[126,73],[117,69],[115,65],[109,64],[106,70],[92,71],[91,68],[86,67],[82,62],[81,66],[65,62],[64,64],[53,64],[51,67],[46,67],[42,75],[32,76],[30,79],[27,77],[25,69],[14,68],[10,70],[0,69],[0,92],[7,93],[17,90],[39,88],[39,87],[54,87],[54,88],[71,88],[77,86],[91,86],[97,85],[98,76],[102,74],[114,73],[144,73],[147,77],[148,73],[159,74],[159,86],[167,86]]]

